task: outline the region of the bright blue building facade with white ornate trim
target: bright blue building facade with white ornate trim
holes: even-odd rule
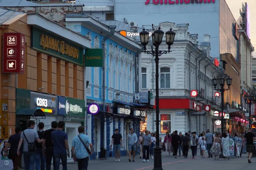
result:
[[[125,155],[128,148],[126,136],[129,134],[129,129],[133,127],[135,132],[139,133],[140,119],[136,118],[136,106],[132,103],[135,91],[134,60],[140,45],[119,32],[113,32],[103,47],[103,39],[111,32],[110,27],[82,14],[66,15],[66,21],[67,28],[90,38],[91,48],[105,48],[103,66],[85,68],[84,81],[88,82],[87,104],[97,103],[100,107],[97,115],[87,114],[87,135],[91,136],[95,151],[91,158],[102,158],[104,152],[102,149],[106,149],[107,152],[110,150],[111,136],[116,128],[123,136],[124,148],[121,150],[122,155]],[[103,71],[105,85],[102,84]],[[105,99],[103,91],[105,91]]]

